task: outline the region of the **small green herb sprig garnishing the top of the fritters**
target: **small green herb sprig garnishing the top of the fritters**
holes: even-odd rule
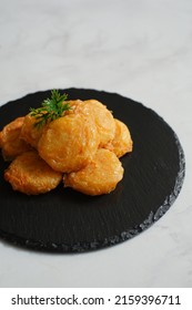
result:
[[[51,97],[46,99],[42,102],[41,107],[31,107],[30,115],[36,117],[37,120],[34,126],[41,128],[48,122],[54,121],[63,116],[64,112],[71,108],[68,102],[64,103],[67,99],[67,94],[61,95],[59,91],[52,90]]]

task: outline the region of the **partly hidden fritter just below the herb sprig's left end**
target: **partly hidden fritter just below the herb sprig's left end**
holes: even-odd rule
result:
[[[37,118],[31,116],[30,113],[26,115],[23,120],[23,125],[21,128],[21,138],[29,143],[34,148],[38,148],[38,143],[41,137],[43,127],[36,127],[34,124]]]

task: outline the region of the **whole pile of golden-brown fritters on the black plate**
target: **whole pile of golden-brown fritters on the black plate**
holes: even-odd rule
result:
[[[38,195],[63,179],[87,195],[108,194],[123,177],[119,157],[132,152],[125,124],[97,100],[68,101],[71,108],[41,128],[30,113],[0,132],[4,178],[14,190]]]

